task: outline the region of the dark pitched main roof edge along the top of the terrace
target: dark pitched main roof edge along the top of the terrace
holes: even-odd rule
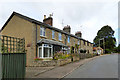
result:
[[[9,17],[9,19],[6,21],[6,23],[5,23],[5,24],[3,25],[3,27],[1,28],[0,32],[5,28],[5,26],[8,24],[8,22],[12,19],[12,17],[13,17],[14,15],[16,15],[16,16],[18,16],[18,17],[20,17],[20,18],[23,18],[23,19],[25,19],[25,20],[27,20],[27,21],[29,21],[29,22],[32,22],[32,23],[35,23],[35,24],[38,24],[38,25],[43,25],[43,26],[45,26],[45,27],[47,27],[47,28],[53,29],[53,30],[58,31],[58,32],[61,32],[61,33],[63,33],[63,34],[66,34],[66,35],[75,37],[75,38],[77,38],[77,39],[81,39],[81,40],[87,41],[87,40],[85,40],[85,39],[83,39],[83,38],[77,37],[77,36],[75,36],[75,35],[73,35],[73,34],[69,34],[69,33],[65,32],[65,31],[63,31],[63,30],[60,30],[60,29],[55,28],[55,27],[52,27],[52,26],[50,26],[50,25],[48,25],[48,24],[45,24],[45,23],[40,22],[40,21],[38,21],[38,20],[35,20],[35,19],[30,18],[30,17],[24,16],[24,15],[19,14],[19,13],[17,13],[17,12],[13,12],[13,13],[11,14],[11,16]],[[89,42],[89,43],[91,43],[91,42]],[[91,44],[93,44],[93,43],[91,43]]]

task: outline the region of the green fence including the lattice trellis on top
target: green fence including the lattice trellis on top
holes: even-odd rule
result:
[[[0,35],[0,76],[2,79],[24,78],[26,66],[25,39]]]

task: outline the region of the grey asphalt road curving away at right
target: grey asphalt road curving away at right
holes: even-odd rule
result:
[[[118,78],[118,54],[96,58],[80,66],[65,78]]]

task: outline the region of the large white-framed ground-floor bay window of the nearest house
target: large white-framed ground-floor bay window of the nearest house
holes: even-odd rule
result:
[[[53,56],[53,46],[50,44],[42,44],[38,47],[38,57],[50,58]]]

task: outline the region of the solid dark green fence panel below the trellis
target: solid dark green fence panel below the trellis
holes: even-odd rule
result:
[[[2,78],[24,78],[25,53],[2,53]]]

